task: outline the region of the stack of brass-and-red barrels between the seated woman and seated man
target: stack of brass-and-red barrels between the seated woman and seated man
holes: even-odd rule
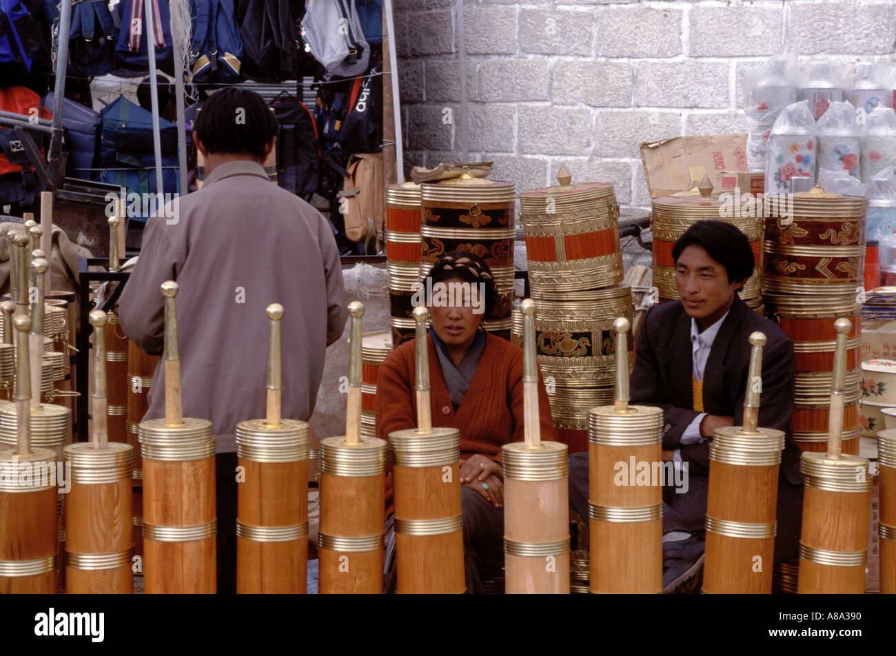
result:
[[[606,182],[520,194],[529,284],[535,300],[538,367],[551,401],[556,438],[570,453],[588,449],[588,411],[613,401],[613,321],[633,319],[623,279],[619,206]],[[629,351],[633,341],[628,342]],[[633,358],[629,358],[630,361]]]

